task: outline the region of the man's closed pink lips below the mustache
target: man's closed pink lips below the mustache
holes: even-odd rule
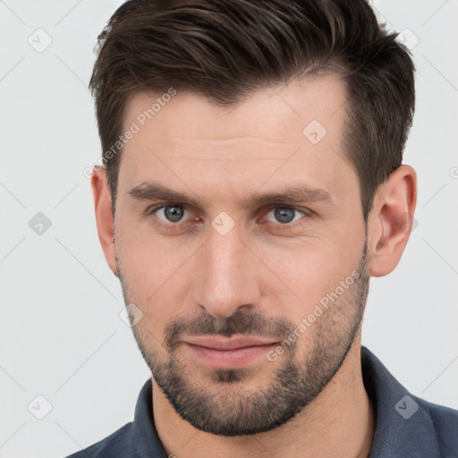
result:
[[[259,360],[278,343],[254,337],[199,336],[184,342],[191,356],[213,369],[239,369]]]

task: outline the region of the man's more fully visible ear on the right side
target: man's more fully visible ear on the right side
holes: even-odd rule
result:
[[[401,165],[382,183],[369,214],[369,272],[386,276],[397,266],[409,240],[417,203],[417,174]]]

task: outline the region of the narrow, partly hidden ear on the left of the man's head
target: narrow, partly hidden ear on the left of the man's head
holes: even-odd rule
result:
[[[96,209],[98,240],[102,245],[106,262],[115,276],[118,276],[116,253],[114,250],[114,224],[111,209],[111,194],[106,182],[106,169],[94,168],[91,177],[92,194]]]

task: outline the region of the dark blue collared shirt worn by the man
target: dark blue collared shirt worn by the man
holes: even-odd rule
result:
[[[376,411],[369,458],[458,457],[458,411],[409,394],[365,347],[361,348],[361,367]],[[133,421],[68,458],[167,458],[157,437],[151,395],[148,379],[141,388]]]

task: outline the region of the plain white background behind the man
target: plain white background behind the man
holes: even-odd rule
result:
[[[97,442],[132,420],[149,377],[119,318],[121,287],[82,174],[100,155],[87,89],[93,47],[119,4],[0,1],[0,457],[57,457]],[[420,40],[404,158],[419,201],[399,267],[371,282],[363,344],[412,394],[456,409],[458,3],[375,6],[410,46]],[[52,38],[42,53],[28,43],[38,28]],[[38,212],[52,222],[42,235],[29,226]],[[38,394],[52,404],[43,420],[27,408]]]

